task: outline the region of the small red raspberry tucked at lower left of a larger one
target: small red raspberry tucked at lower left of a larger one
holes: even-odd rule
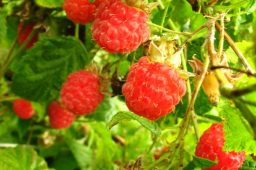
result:
[[[48,108],[49,121],[55,129],[68,128],[75,119],[75,115],[57,102],[51,102]]]

